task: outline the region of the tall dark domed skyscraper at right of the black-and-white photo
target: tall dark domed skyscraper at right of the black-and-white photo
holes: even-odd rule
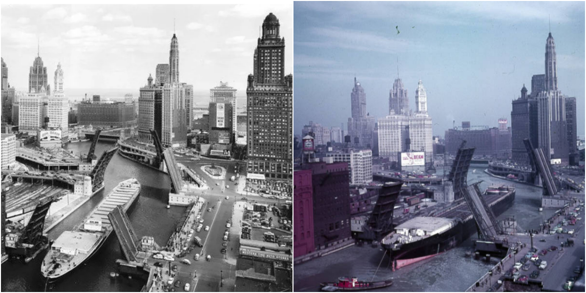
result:
[[[248,173],[267,179],[292,179],[293,76],[284,76],[285,38],[269,13],[254,50],[254,74],[248,76]]]

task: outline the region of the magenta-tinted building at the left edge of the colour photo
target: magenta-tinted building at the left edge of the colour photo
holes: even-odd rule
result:
[[[293,173],[293,257],[315,251],[311,169]]]

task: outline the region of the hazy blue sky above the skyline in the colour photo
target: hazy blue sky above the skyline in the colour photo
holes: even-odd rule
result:
[[[423,81],[434,135],[454,120],[510,126],[511,101],[545,71],[549,19],[584,138],[584,2],[295,2],[294,133],[309,121],[346,130],[355,76],[374,117],[400,76],[410,109]]]

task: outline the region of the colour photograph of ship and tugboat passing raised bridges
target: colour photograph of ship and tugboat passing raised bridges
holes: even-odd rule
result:
[[[295,2],[294,285],[584,291],[584,2]]]

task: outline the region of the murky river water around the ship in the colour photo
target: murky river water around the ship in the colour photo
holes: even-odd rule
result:
[[[515,216],[517,227],[522,230],[538,229],[556,211],[541,206],[541,189],[522,185],[498,178],[483,172],[485,168],[472,168],[468,173],[468,183],[478,182],[481,190],[490,185],[515,185],[515,203],[503,212],[498,220]],[[440,172],[440,171],[438,171]],[[497,263],[466,258],[465,252],[471,249],[472,239],[464,241],[459,247],[432,257],[428,260],[409,265],[395,272],[389,267],[388,257],[383,259],[383,250],[368,245],[350,247],[345,250],[316,258],[301,265],[295,265],[294,291],[319,291],[319,283],[331,282],[338,277],[357,277],[359,280],[387,280],[393,278],[394,284],[378,291],[455,291],[462,292]],[[380,267],[379,267],[380,264]],[[378,271],[377,271],[378,268]],[[376,273],[376,275],[375,275]]]

